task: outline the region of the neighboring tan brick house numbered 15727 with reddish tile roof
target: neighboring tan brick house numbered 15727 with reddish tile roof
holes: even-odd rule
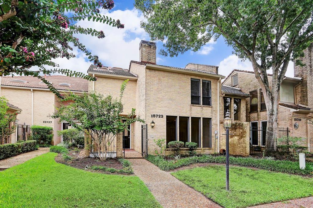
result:
[[[45,77],[61,93],[74,92],[80,94],[88,90],[88,81],[77,77],[46,76]],[[36,77],[0,77],[0,96],[18,106],[23,111],[18,114],[18,123],[24,128],[24,123],[29,134],[32,125],[50,126],[54,130],[53,144],[58,144],[61,138],[57,136],[58,130],[66,129],[67,123],[58,123],[58,119],[52,119],[49,115],[54,113],[54,106],[59,105],[58,98],[49,91],[46,84]],[[24,137],[23,130],[19,131],[19,137]],[[10,140],[14,143],[15,140]]]

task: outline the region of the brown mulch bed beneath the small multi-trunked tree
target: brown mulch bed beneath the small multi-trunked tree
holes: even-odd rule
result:
[[[61,154],[58,154],[58,156],[55,157],[55,161],[58,163],[62,163],[64,165],[68,165],[68,166],[82,169],[82,170],[85,170],[86,166],[88,166],[88,169],[87,169],[88,171],[103,172],[106,174],[116,174],[116,173],[110,173],[110,172],[105,172],[105,171],[101,171],[101,170],[100,171],[93,171],[93,170],[90,170],[89,168],[91,166],[104,166],[104,167],[115,168],[115,169],[123,169],[122,164],[116,158],[107,158],[106,161],[100,161],[94,157],[77,158],[79,153],[76,153],[73,150],[70,150],[68,155],[73,157],[72,161],[70,161],[70,162],[63,161]]]

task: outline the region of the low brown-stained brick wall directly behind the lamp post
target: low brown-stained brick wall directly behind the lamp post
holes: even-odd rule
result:
[[[226,134],[226,129],[221,126],[221,134]],[[249,122],[233,122],[229,129],[229,154],[249,156],[250,125]],[[232,135],[231,135],[232,134]],[[226,149],[226,135],[221,135],[220,149]]]

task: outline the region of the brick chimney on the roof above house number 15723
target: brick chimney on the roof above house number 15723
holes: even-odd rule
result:
[[[156,64],[156,43],[141,40],[139,45],[139,60],[150,64]]]

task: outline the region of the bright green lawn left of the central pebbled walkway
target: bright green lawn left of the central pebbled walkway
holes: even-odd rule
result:
[[[0,171],[0,207],[161,207],[137,176],[79,170],[56,155]]]

